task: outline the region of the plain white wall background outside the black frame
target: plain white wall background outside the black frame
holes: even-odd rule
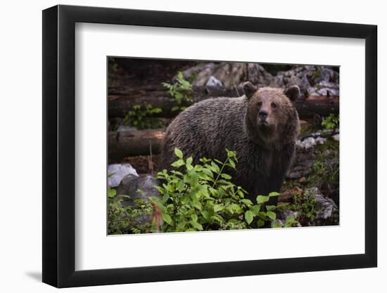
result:
[[[1,5],[0,45],[0,289],[1,292],[53,292],[42,275],[42,9],[56,1],[4,1]],[[136,285],[67,289],[68,292],[385,292],[387,274],[387,19],[383,1],[181,1],[87,0],[61,4],[110,6],[358,22],[379,26],[379,268],[319,273],[265,275]],[[355,85],[354,85],[355,86]],[[384,126],[384,127],[383,127]]]

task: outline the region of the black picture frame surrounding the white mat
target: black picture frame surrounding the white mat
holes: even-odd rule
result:
[[[75,271],[75,23],[365,39],[365,253]],[[164,11],[43,11],[43,282],[55,287],[297,273],[377,265],[377,27]]]

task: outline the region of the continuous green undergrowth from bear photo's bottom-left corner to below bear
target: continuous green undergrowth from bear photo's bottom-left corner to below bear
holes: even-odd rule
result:
[[[246,198],[246,191],[230,181],[230,171],[237,164],[236,152],[226,152],[224,162],[202,158],[193,165],[192,157],[184,158],[175,148],[174,169],[158,172],[160,185],[154,188],[161,197],[134,200],[134,204],[124,206],[123,201],[130,197],[108,188],[108,234],[234,230],[261,228],[269,223],[281,226],[274,220],[276,211],[284,207],[267,205],[270,197],[279,193],[258,195],[256,202]],[[288,219],[283,226],[295,222]]]

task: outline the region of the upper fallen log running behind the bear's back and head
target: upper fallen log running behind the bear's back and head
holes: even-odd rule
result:
[[[238,97],[243,90],[240,87],[226,89],[224,87],[198,86],[195,87],[190,97],[192,103],[214,97]],[[177,112],[172,111],[176,105],[171,99],[166,89],[162,87],[127,89],[125,87],[109,89],[108,96],[109,117],[124,117],[132,110],[134,105],[150,104],[153,108],[161,108],[162,112],[158,117],[175,117]],[[189,106],[191,103],[187,104]],[[296,101],[296,108],[301,119],[310,119],[315,115],[322,117],[331,113],[338,115],[338,96],[310,96],[300,98]]]

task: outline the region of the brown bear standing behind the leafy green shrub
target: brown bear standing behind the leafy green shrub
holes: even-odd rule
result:
[[[244,188],[248,198],[279,192],[300,130],[293,105],[300,89],[258,89],[245,82],[243,91],[239,98],[210,98],[181,112],[165,133],[160,169],[171,169],[177,160],[175,148],[194,162],[201,157],[224,161],[227,148],[238,158],[231,181]]]

